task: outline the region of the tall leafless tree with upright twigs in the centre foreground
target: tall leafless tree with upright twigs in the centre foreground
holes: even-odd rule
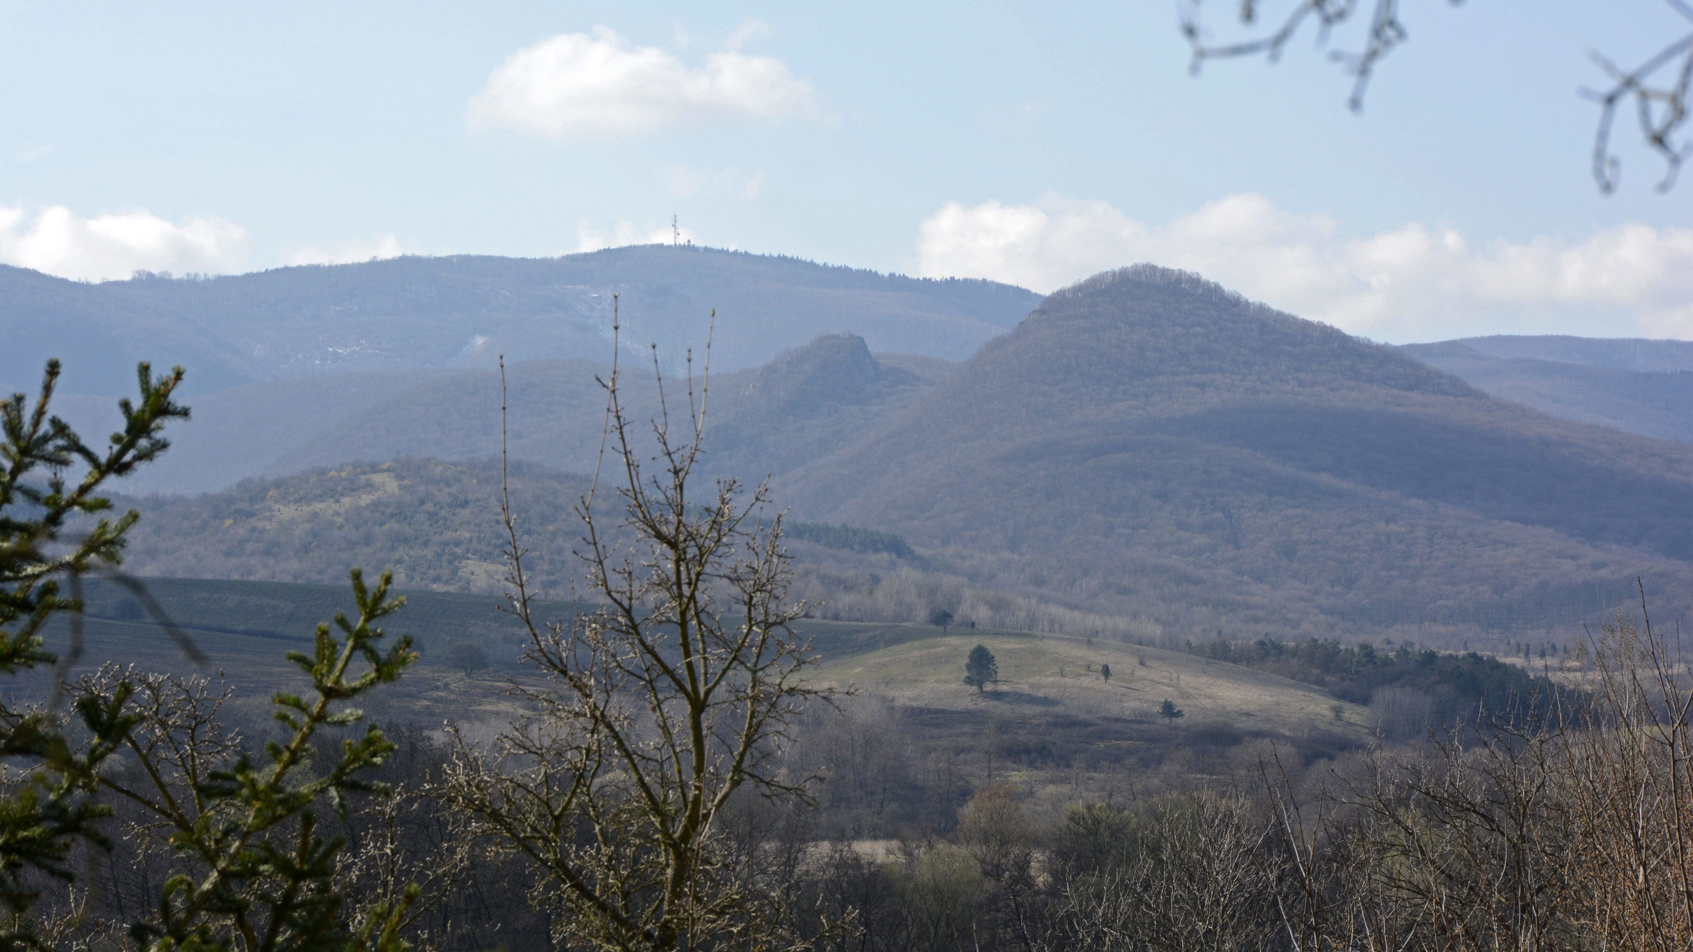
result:
[[[692,361],[689,359],[689,368]],[[660,395],[664,376],[659,376]],[[687,374],[677,427],[660,396],[652,442],[606,390],[601,468],[618,474],[621,518],[594,493],[577,513],[591,610],[535,617],[516,518],[505,508],[511,612],[547,686],[520,693],[540,711],[493,750],[460,740],[449,801],[537,871],[535,899],[560,942],[599,949],[799,947],[780,889],[760,879],[725,830],[736,791],[808,800],[811,778],[779,761],[804,701],[808,642],[789,623],[782,518],[764,486],[733,479],[694,496],[709,364]],[[652,449],[643,449],[650,446]]]

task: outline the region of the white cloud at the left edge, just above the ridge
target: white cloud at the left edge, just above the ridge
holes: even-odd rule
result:
[[[78,219],[54,205],[30,219],[0,208],[0,261],[76,280],[129,278],[146,271],[237,269],[247,256],[247,232],[217,217],[168,222],[149,212]]]

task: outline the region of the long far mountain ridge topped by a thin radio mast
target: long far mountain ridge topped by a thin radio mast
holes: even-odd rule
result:
[[[550,259],[394,257],[251,274],[137,273],[78,283],[0,266],[0,383],[46,357],[74,393],[122,395],[137,361],[191,369],[186,393],[350,371],[609,359],[623,340],[720,369],[757,366],[818,334],[853,330],[882,351],[960,359],[1029,312],[1011,285],[914,280],[792,257],[635,246]],[[713,322],[713,312],[716,320]]]

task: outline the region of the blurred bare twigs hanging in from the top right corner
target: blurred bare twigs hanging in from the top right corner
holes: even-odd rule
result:
[[[1253,30],[1265,3],[1261,0],[1231,2],[1238,3],[1241,25]],[[1458,5],[1463,0],[1449,2]],[[1327,42],[1332,30],[1361,19],[1366,8],[1361,0],[1297,0],[1292,10],[1268,32],[1214,44],[1207,39],[1207,30],[1200,22],[1202,3],[1204,0],[1188,0],[1182,12],[1182,36],[1194,49],[1192,69],[1195,73],[1207,59],[1266,56],[1275,61],[1288,41],[1299,36],[1307,24],[1315,24],[1319,42]],[[1585,97],[1600,105],[1598,127],[1593,134],[1593,180],[1605,193],[1615,191],[1622,169],[1622,159],[1612,149],[1612,125],[1615,125],[1620,108],[1634,107],[1641,137],[1649,149],[1664,159],[1666,169],[1657,183],[1659,191],[1674,186],[1681,163],[1693,149],[1678,139],[1688,122],[1688,85],[1693,81],[1693,3],[1688,0],[1664,0],[1664,3],[1685,17],[1690,27],[1681,36],[1664,42],[1639,66],[1629,69],[1617,66],[1596,51],[1590,54],[1610,81],[1610,86],[1603,90],[1583,90]],[[1368,10],[1363,44],[1356,51],[1332,51],[1329,54],[1353,78],[1348,102],[1354,112],[1363,110],[1365,91],[1375,76],[1376,64],[1409,37],[1398,15],[1398,0],[1373,0]]]

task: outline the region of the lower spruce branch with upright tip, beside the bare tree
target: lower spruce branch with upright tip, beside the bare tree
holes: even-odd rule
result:
[[[318,625],[310,654],[288,652],[315,696],[273,698],[273,717],[290,732],[286,740],[271,740],[261,756],[240,754],[229,767],[190,772],[195,798],[188,805],[173,784],[159,783],[164,771],[132,744],[147,771],[107,784],[174,827],[171,845],[181,864],[163,886],[157,916],[130,930],[137,942],[183,952],[222,950],[237,937],[256,952],[405,949],[398,932],[416,889],[405,889],[393,903],[379,903],[354,920],[352,905],[335,888],[337,861],[347,844],[320,832],[323,806],[345,816],[349,794],[389,793],[361,774],[383,764],[394,744],[379,727],[367,725],[340,740],[340,757],[327,769],[308,769],[318,759],[313,740],[320,732],[350,728],[364,718],[349,701],[394,681],[416,661],[410,639],[401,637],[384,650],[383,632],[372,627],[405,605],[405,598],[388,596],[389,581],[383,574],[369,588],[352,571],[356,620],[337,615],[340,635],[327,623]],[[117,691],[91,691],[81,703],[95,708],[107,701],[120,711],[132,693],[120,681]],[[139,715],[130,715],[130,725],[139,722]]]

